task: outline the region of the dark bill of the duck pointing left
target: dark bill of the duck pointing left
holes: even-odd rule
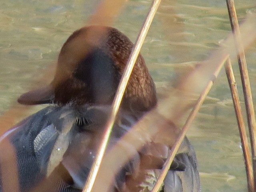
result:
[[[54,88],[52,84],[22,94],[18,103],[23,105],[37,105],[52,103],[54,99]]]

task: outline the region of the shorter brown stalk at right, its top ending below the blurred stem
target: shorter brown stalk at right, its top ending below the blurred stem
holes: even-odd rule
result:
[[[248,184],[248,191],[254,192],[254,179],[253,179],[253,170],[252,170],[252,161],[250,155],[249,144],[246,136],[246,130],[244,125],[244,118],[242,116],[242,108],[239,101],[238,90],[236,87],[236,80],[234,76],[234,72],[232,69],[230,58],[228,57],[226,64],[225,64],[226,75],[228,78],[228,84],[231,91],[231,96],[234,104],[234,109],[236,112],[236,119],[239,128],[239,134],[242,143],[242,150],[244,153],[244,163],[245,163],[245,170],[247,176],[247,184]]]

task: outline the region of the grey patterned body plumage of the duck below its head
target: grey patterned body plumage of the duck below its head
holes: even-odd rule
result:
[[[109,113],[109,106],[82,106],[79,109],[70,106],[49,106],[28,117],[12,132],[1,138],[0,148],[4,148],[3,140],[10,140],[14,146],[20,192],[81,192]],[[115,123],[109,147],[113,146],[137,121],[129,112],[122,111],[118,120],[121,123]],[[136,137],[136,139],[140,138],[140,136]],[[64,139],[65,144],[62,145]],[[124,153],[132,151],[134,156],[120,169],[110,191],[150,190],[170,147],[152,141],[139,151],[132,146],[132,143],[122,143],[122,146]],[[8,161],[8,157],[4,155],[1,153],[0,158]],[[142,159],[154,161],[154,164],[144,163],[142,168],[140,165]],[[2,163],[0,166],[5,165]],[[134,182],[130,182],[134,186],[126,185],[128,179],[134,179]],[[1,177],[2,182],[8,180]],[[200,191],[196,155],[187,138],[174,158],[163,189],[164,192]]]

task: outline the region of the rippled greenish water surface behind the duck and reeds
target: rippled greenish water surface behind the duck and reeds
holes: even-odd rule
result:
[[[30,82],[41,75],[43,68],[56,62],[66,38],[85,24],[97,2],[99,0],[0,2],[0,114],[8,110],[18,95],[30,88]],[[170,3],[163,1],[142,48],[159,95],[164,94],[162,91],[168,86],[167,82],[175,82],[178,68],[188,69],[204,60],[230,32],[223,0]],[[247,12],[256,9],[253,3],[236,1],[240,22]],[[127,4],[114,26],[134,41],[150,1],[133,0]],[[168,28],[168,22],[174,23],[176,28]],[[255,46],[248,50],[246,57],[254,94]],[[235,76],[239,78],[237,66],[234,68]],[[240,81],[238,88],[242,98]],[[202,191],[246,191],[240,138],[223,72],[209,96],[188,133],[199,160]]]

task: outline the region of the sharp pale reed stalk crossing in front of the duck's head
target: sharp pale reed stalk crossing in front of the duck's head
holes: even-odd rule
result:
[[[100,168],[100,164],[102,162],[102,158],[104,156],[104,153],[106,151],[106,147],[108,144],[108,140],[110,137],[110,133],[112,130],[112,127],[114,125],[116,114],[118,112],[118,109],[120,107],[122,97],[124,95],[124,91],[126,88],[126,85],[128,84],[128,80],[130,78],[130,75],[132,73],[132,69],[134,67],[134,64],[137,60],[138,54],[140,52],[140,49],[142,47],[142,44],[144,42],[144,39],[146,38],[146,34],[148,33],[148,29],[150,28],[150,25],[152,23],[152,20],[154,18],[154,15],[156,14],[156,10],[158,9],[158,6],[160,5],[161,0],[154,0],[151,4],[150,11],[148,12],[148,15],[146,17],[146,20],[144,21],[144,24],[140,30],[140,33],[136,39],[136,42],[134,44],[134,47],[132,48],[132,52],[130,54],[130,57],[128,59],[128,62],[126,64],[126,67],[124,69],[124,74],[122,75],[122,78],[120,80],[113,104],[112,104],[112,111],[110,114],[110,117],[108,119],[108,122],[106,124],[106,130],[104,131],[104,135],[102,138],[102,142],[100,144],[100,147],[98,149],[96,158],[94,160],[94,163],[92,165],[90,174],[88,176],[88,179],[86,181],[86,184],[84,186],[83,192],[90,192],[92,190],[92,187],[94,185],[94,182],[96,180],[96,176],[98,174],[98,170]]]

